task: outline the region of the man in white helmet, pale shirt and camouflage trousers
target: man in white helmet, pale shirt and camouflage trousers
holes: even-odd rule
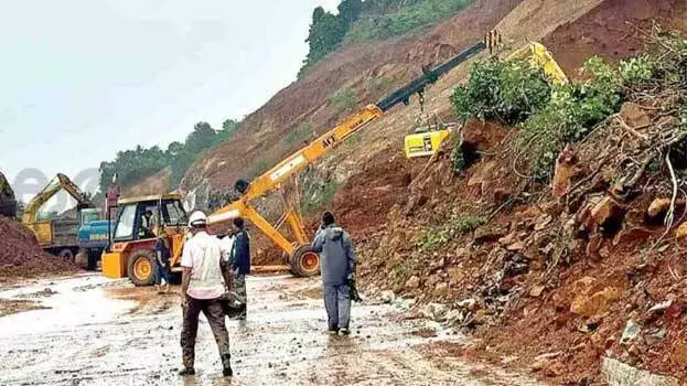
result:
[[[181,307],[184,318],[181,347],[184,368],[180,375],[195,374],[195,337],[202,311],[219,349],[223,374],[232,376],[229,334],[224,324],[221,301],[225,291],[232,288],[230,268],[222,259],[219,240],[207,234],[207,216],[203,212],[191,215],[189,229],[193,237],[185,244],[181,257]]]

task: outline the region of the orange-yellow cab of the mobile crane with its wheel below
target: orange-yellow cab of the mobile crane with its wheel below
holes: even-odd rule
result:
[[[109,248],[103,253],[103,275],[129,277],[136,286],[154,283],[154,247],[159,237],[168,242],[172,272],[180,271],[178,265],[187,222],[178,194],[119,200]]]

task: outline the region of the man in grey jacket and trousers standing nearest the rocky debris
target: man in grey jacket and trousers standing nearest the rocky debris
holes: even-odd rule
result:
[[[348,234],[336,226],[331,212],[322,214],[322,226],[315,234],[312,249],[320,254],[329,333],[350,335],[351,288],[348,281],[355,276],[355,249]]]

